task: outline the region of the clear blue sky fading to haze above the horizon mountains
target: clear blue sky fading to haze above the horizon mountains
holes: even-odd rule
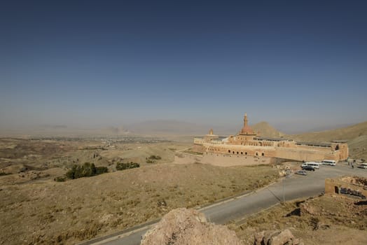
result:
[[[0,127],[367,120],[367,1],[1,1]]]

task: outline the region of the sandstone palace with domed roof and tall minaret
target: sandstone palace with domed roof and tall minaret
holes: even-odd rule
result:
[[[194,139],[193,151],[203,153],[201,162],[214,165],[268,164],[276,159],[296,161],[328,159],[338,162],[347,159],[349,155],[348,145],[343,141],[321,144],[296,142],[282,137],[259,137],[248,125],[246,114],[244,125],[238,134],[223,138],[210,130],[205,137]]]

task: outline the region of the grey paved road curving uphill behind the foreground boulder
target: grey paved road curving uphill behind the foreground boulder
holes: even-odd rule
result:
[[[324,191],[326,178],[342,175],[358,175],[367,178],[367,169],[352,169],[344,163],[335,167],[321,166],[315,172],[307,172],[307,176],[294,174],[267,188],[205,207],[200,211],[205,214],[208,221],[223,224],[279,204],[283,201],[283,195],[286,201],[319,195]],[[86,241],[83,245],[139,245],[141,236],[145,234],[151,225],[153,224],[148,225],[148,227],[132,228],[108,237]]]

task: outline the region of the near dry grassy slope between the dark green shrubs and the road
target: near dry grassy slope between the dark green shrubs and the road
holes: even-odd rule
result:
[[[0,240],[74,244],[151,221],[178,207],[259,188],[277,176],[277,169],[268,166],[162,164],[60,183],[5,185],[0,190]]]

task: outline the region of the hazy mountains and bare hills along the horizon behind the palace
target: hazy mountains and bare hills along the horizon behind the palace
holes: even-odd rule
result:
[[[126,125],[126,127],[106,127],[103,129],[78,129],[66,125],[42,125],[22,130],[2,131],[0,137],[123,137],[124,135],[193,137],[195,135],[205,135],[211,128],[214,130],[214,134],[229,136],[230,134],[237,134],[241,127],[242,125],[231,128],[186,123],[178,120],[149,120]],[[345,140],[349,145],[349,155],[352,158],[367,159],[367,121],[335,130],[305,132],[302,134],[284,134],[266,122],[256,123],[251,127],[261,137],[284,137],[296,141],[312,142]]]

